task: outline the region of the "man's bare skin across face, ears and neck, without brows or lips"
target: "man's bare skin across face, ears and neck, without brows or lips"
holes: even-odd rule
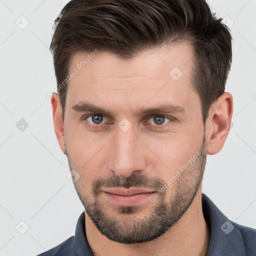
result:
[[[104,231],[100,230],[85,210],[86,237],[94,254],[206,254],[209,230],[202,214],[201,179],[206,154],[217,153],[227,137],[232,96],[224,92],[212,103],[204,126],[200,98],[190,82],[192,57],[193,48],[188,42],[147,49],[126,60],[100,51],[70,80],[64,122],[59,96],[52,96],[59,146],[68,157],[70,169],[75,169],[80,175],[74,183],[77,194],[85,209],[93,212],[96,203],[102,218],[110,221],[109,226],[101,223]],[[83,59],[84,52],[75,52],[69,70]],[[178,80],[169,75],[174,67],[183,73]],[[82,116],[93,113],[78,112],[72,108],[84,100],[113,110],[115,114],[104,114],[100,124],[93,123],[91,118],[80,120]],[[184,111],[152,112],[146,116],[134,114],[141,108],[158,107],[162,103],[182,106]],[[174,119],[165,119],[164,124],[157,125],[153,116],[159,115]],[[123,118],[131,124],[126,131],[118,126]],[[102,192],[111,180],[118,184],[117,187],[127,185],[127,181],[134,184],[132,187],[138,187],[135,181],[139,179],[136,177],[141,177],[143,188],[151,185],[157,191],[160,187],[156,181],[165,183],[197,151],[201,152],[200,157],[167,187],[163,195],[153,202],[144,200],[136,207],[130,207],[128,214],[124,213],[127,207],[115,205]],[[97,193],[94,193],[93,184],[98,180],[102,186],[96,187]],[[169,219],[173,220],[165,223],[167,230],[158,233],[157,237],[129,244],[110,237],[111,228],[115,227],[119,239],[128,234],[133,237],[135,227],[139,233],[143,230],[143,223],[151,224],[155,230],[151,214],[157,206],[161,206],[159,210],[163,215],[172,212]],[[155,221],[160,219],[161,216],[155,216]],[[162,220],[168,221],[164,217]]]

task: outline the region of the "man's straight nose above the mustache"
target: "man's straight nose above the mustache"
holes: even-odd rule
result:
[[[133,133],[133,127],[123,131],[117,127],[110,142],[108,168],[119,177],[128,177],[145,167],[142,142]]]

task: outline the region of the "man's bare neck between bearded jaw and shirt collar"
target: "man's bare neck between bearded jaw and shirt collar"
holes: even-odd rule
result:
[[[88,244],[95,255],[199,255],[205,256],[209,230],[202,213],[201,187],[180,219],[164,234],[148,242],[123,244],[102,235],[85,211],[85,231]]]

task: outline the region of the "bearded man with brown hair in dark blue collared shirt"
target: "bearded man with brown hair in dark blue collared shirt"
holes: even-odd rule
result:
[[[40,255],[255,255],[256,230],[201,193],[227,137],[231,36],[203,0],[72,0],[51,105],[85,208]]]

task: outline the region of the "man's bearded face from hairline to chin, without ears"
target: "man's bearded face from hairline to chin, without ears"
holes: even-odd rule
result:
[[[206,153],[200,99],[190,81],[193,49],[182,42],[126,60],[99,51],[79,70],[87,54],[72,56],[69,71],[78,73],[65,105],[66,154],[80,175],[75,189],[106,237],[149,241],[182,216],[202,179]],[[86,110],[85,103],[102,111]],[[114,195],[110,188],[150,193]]]

